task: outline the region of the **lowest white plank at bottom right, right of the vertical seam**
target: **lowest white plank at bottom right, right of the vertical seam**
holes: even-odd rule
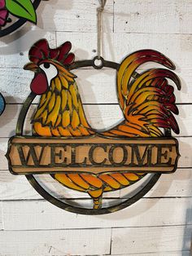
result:
[[[191,226],[138,227],[112,230],[112,254],[140,254],[190,250]]]

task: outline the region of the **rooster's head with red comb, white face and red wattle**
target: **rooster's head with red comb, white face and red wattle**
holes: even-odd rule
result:
[[[35,73],[31,82],[31,90],[36,95],[42,95],[48,90],[55,77],[63,77],[72,80],[75,75],[68,71],[70,64],[74,62],[75,55],[71,51],[71,42],[64,42],[56,49],[50,49],[46,39],[36,42],[28,53],[30,63],[24,69]]]

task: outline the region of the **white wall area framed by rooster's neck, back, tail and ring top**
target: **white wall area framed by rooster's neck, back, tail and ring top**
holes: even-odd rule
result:
[[[124,120],[116,95],[116,70],[92,68],[73,73],[77,75],[85,116],[92,128],[109,130]]]

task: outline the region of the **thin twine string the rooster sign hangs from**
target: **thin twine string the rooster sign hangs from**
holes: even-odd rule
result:
[[[102,13],[104,11],[107,0],[99,0],[100,7],[98,7],[98,60],[101,59],[102,48]]]

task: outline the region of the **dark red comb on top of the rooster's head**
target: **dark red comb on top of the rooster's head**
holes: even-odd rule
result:
[[[75,55],[69,53],[72,49],[71,42],[64,42],[55,49],[50,49],[46,39],[41,39],[33,44],[28,52],[28,58],[34,64],[39,64],[42,60],[57,60],[62,65],[70,65],[75,60]]]

